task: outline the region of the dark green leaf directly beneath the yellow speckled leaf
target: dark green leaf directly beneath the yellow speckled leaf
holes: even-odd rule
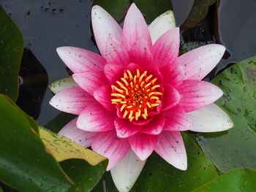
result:
[[[75,182],[69,188],[69,192],[89,192],[99,182],[102,174],[108,165],[108,160],[103,161],[97,166],[91,166],[86,161],[71,159],[61,162],[61,166],[69,177]]]

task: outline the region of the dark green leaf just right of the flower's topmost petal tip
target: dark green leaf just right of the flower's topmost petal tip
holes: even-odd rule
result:
[[[140,12],[143,13],[148,24],[167,10],[173,10],[170,0],[134,0],[134,2],[140,9]]]

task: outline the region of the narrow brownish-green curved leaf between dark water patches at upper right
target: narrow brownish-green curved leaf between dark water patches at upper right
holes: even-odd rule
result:
[[[192,28],[199,23],[200,20],[206,18],[208,7],[216,1],[217,0],[195,0],[187,19],[181,25],[181,30]]]

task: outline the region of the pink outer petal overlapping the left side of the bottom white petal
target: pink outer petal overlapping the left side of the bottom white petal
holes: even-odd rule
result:
[[[91,143],[91,148],[108,158],[107,171],[116,166],[124,158],[130,149],[128,139],[121,139],[116,136],[116,131],[97,133]]]

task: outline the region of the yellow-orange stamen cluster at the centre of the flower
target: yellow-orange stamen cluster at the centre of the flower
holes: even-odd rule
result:
[[[127,70],[124,77],[116,83],[117,85],[111,86],[111,96],[114,98],[111,99],[112,104],[116,104],[120,112],[123,112],[123,118],[128,118],[129,121],[146,119],[148,112],[154,110],[161,102],[162,93],[159,92],[157,77],[153,78],[147,71],[141,74],[137,69],[133,75]]]

